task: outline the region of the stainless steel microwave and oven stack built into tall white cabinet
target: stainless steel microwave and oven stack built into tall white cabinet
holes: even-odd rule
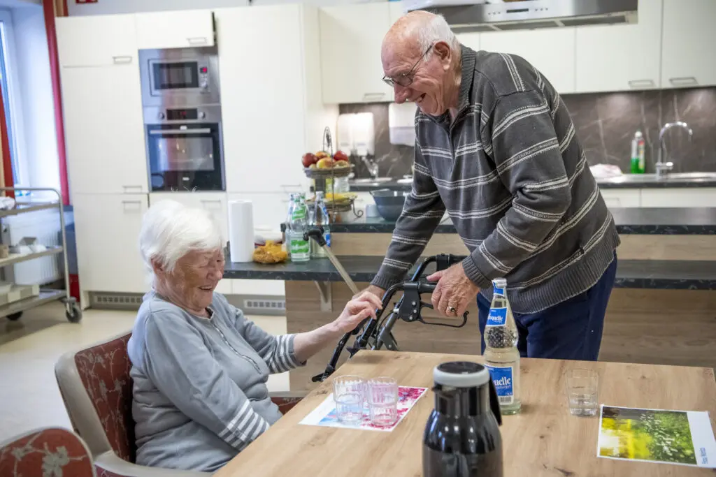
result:
[[[216,47],[139,58],[150,190],[226,190]]]

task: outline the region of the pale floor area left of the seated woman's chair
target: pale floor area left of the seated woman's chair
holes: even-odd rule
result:
[[[130,330],[134,319],[135,312],[85,310],[80,323],[69,323],[60,303],[16,322],[0,317],[0,441],[38,427],[69,428],[54,378],[57,358]]]

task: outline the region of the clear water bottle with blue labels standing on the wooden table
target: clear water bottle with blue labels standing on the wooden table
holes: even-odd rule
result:
[[[485,366],[497,390],[500,411],[516,414],[522,406],[520,396],[519,333],[507,300],[507,280],[493,280],[493,301],[485,326]]]

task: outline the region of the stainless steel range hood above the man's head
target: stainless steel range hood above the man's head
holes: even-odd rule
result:
[[[648,1],[648,0],[647,0]],[[441,14],[455,33],[637,23],[639,0],[402,0]]]

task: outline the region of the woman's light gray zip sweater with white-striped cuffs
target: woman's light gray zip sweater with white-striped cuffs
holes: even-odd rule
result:
[[[269,335],[218,293],[211,313],[144,297],[127,343],[142,466],[216,471],[281,417],[266,380],[304,364],[294,335]]]

